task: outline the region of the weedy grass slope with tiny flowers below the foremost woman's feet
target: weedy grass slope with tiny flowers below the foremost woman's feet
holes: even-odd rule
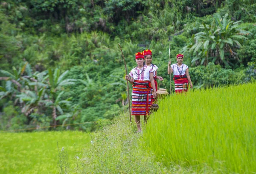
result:
[[[145,129],[145,128],[144,128]],[[154,154],[145,151],[143,133],[134,133],[128,113],[120,114],[111,125],[94,134],[91,148],[84,151],[80,173],[156,174],[185,173],[178,167],[166,168]]]

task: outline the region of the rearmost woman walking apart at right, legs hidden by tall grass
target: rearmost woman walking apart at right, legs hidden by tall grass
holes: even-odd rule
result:
[[[168,74],[173,73],[176,93],[184,93],[188,90],[188,86],[193,87],[189,76],[189,67],[183,64],[183,54],[177,54],[177,64],[168,63]],[[170,67],[170,65],[172,66]],[[189,83],[188,83],[189,82]]]

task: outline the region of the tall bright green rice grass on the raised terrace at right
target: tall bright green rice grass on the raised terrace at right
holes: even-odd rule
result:
[[[251,83],[166,97],[143,133],[146,148],[198,172],[256,172],[255,95]]]

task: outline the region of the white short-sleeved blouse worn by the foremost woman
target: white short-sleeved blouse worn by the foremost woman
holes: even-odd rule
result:
[[[152,67],[149,67],[147,65],[144,65],[142,69],[139,69],[135,67],[134,69],[131,70],[129,75],[134,79],[134,80],[140,80],[140,81],[149,81],[149,74],[154,73],[154,69]]]

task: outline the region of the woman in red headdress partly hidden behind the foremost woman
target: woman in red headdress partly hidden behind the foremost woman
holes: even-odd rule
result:
[[[163,77],[161,76],[158,76],[157,75],[157,65],[155,64],[152,64],[152,51],[149,50],[149,49],[146,49],[143,51],[143,55],[144,55],[144,58],[145,58],[145,65],[147,65],[148,67],[151,67],[153,70],[154,70],[154,84],[155,84],[155,87],[156,87],[156,91],[157,91],[157,79],[159,79],[160,81],[163,80]],[[153,89],[151,89],[151,94],[153,93]],[[151,97],[151,103],[154,103],[154,98]]]

